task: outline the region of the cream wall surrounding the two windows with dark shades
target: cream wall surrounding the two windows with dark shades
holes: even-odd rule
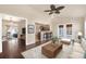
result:
[[[73,24],[73,35],[72,38],[77,38],[77,33],[82,31],[84,34],[84,18],[83,17],[56,17],[51,22],[51,29],[54,36],[58,36],[58,25],[60,24]]]

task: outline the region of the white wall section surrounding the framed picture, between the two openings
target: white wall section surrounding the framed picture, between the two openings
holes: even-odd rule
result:
[[[36,33],[36,24],[35,23],[40,23],[40,24],[49,24],[50,23],[49,21],[45,23],[44,21],[46,21],[46,20],[38,20],[38,18],[32,20],[32,21],[27,20],[27,22],[26,22],[26,30],[27,30],[27,25],[34,25],[35,33]],[[34,34],[28,34],[26,31],[26,46],[36,42],[36,39],[35,39],[36,34],[35,33]]]

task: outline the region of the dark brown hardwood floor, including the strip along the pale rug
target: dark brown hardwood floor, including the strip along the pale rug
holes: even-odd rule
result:
[[[2,53],[0,54],[0,59],[24,59],[21,52],[26,51],[28,49],[40,46],[47,41],[36,42],[29,46],[25,46],[25,42],[17,42],[17,40],[3,41],[2,42]]]

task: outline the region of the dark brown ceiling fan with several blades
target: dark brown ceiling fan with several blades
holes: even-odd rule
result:
[[[60,14],[60,10],[64,9],[64,7],[58,7],[56,8],[54,4],[51,4],[50,5],[50,10],[45,10],[45,12],[49,12],[49,15],[53,14],[53,13],[57,13],[57,14]]]

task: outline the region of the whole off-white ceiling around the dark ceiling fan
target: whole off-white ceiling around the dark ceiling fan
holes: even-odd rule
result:
[[[59,7],[57,4],[57,7]],[[65,8],[61,10],[60,14],[57,14],[57,16],[75,16],[75,17],[83,17],[86,16],[86,4],[81,5],[64,5]],[[0,5],[0,13],[16,15],[26,17],[29,21],[30,20],[45,20],[50,21],[51,15],[48,15],[47,12],[44,12],[44,10],[50,9],[49,4],[3,4]]]

